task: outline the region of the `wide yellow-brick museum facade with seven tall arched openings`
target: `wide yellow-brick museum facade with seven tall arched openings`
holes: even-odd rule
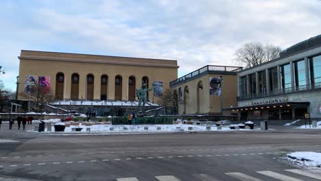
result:
[[[32,93],[39,85],[57,101],[135,101],[136,88],[155,84],[147,99],[157,103],[178,74],[176,60],[29,50],[18,58],[18,93]]]

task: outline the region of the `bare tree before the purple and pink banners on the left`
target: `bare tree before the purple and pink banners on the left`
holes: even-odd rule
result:
[[[36,106],[38,112],[42,112],[47,104],[53,101],[53,95],[51,90],[47,92],[45,88],[39,86],[38,84],[34,85],[34,90],[32,93],[21,93],[21,96],[24,99],[32,100]]]

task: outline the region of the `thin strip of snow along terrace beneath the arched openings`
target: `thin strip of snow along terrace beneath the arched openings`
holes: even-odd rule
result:
[[[138,101],[56,101],[51,105],[138,106]],[[147,102],[145,106],[159,106]]]

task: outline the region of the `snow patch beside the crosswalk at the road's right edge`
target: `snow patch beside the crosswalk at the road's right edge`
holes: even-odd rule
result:
[[[321,167],[321,153],[294,152],[287,154],[287,160],[300,167],[316,169]]]

